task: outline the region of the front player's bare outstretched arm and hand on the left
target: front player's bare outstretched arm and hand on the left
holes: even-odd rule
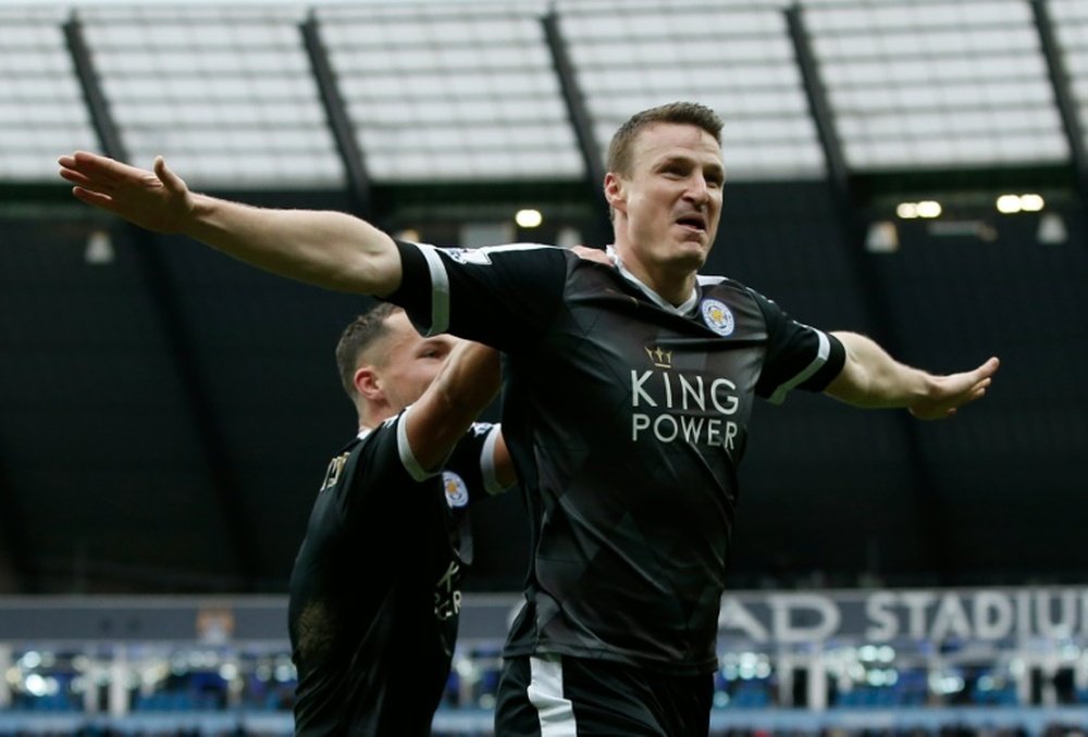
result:
[[[156,233],[181,234],[240,261],[337,291],[384,297],[400,285],[385,233],[346,213],[254,208],[189,190],[162,157],[153,171],[76,151],[59,159],[79,200]]]

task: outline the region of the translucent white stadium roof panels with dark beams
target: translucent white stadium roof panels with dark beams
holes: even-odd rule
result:
[[[0,182],[75,146],[203,188],[571,180],[631,111],[727,120],[732,180],[1083,165],[1074,0],[0,4]]]

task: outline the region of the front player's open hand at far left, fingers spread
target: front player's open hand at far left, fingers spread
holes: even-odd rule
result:
[[[193,212],[193,193],[162,157],[156,157],[153,172],[86,151],[58,163],[76,199],[148,230],[178,233]]]

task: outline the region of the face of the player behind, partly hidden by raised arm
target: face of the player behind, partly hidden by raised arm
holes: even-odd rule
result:
[[[400,311],[390,315],[386,326],[385,360],[378,372],[386,401],[399,412],[426,391],[459,340],[448,335],[421,337]]]

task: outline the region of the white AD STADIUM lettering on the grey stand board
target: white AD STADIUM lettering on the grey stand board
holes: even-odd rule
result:
[[[783,645],[1061,639],[1088,636],[1088,588],[746,592],[722,598],[718,625],[726,639]]]

